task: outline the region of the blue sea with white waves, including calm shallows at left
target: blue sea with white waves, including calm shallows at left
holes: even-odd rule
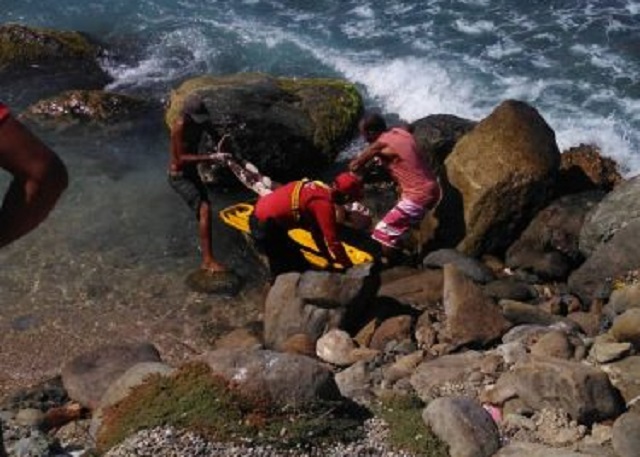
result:
[[[104,42],[116,92],[164,101],[204,73],[336,76],[406,121],[479,120],[513,98],[538,109],[561,150],[594,143],[625,175],[640,171],[637,0],[0,0],[5,22]],[[0,99],[20,110],[46,88],[17,81]],[[66,328],[84,308],[113,312],[117,329],[114,310],[170,315],[204,300],[182,283],[199,255],[166,183],[166,130],[38,133],[72,183],[38,230],[0,252],[0,331]],[[220,256],[251,277],[234,234],[218,233]]]

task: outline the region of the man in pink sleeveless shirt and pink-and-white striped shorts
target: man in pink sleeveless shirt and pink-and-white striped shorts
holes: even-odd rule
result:
[[[442,191],[415,138],[406,128],[388,129],[384,118],[376,113],[365,115],[359,127],[369,146],[351,161],[349,169],[357,172],[377,158],[400,188],[400,199],[372,234],[382,246],[383,255],[393,261],[400,253],[401,237],[438,204]]]

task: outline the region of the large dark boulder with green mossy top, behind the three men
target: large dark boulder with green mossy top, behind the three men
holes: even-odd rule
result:
[[[207,75],[171,93],[167,125],[194,93],[219,132],[230,134],[226,147],[276,181],[318,176],[353,136],[363,110],[355,85],[340,79]]]

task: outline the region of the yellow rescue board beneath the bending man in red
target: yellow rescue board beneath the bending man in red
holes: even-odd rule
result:
[[[240,230],[241,232],[249,233],[249,217],[252,212],[253,205],[250,203],[238,203],[220,211],[220,218],[225,224]],[[300,251],[310,264],[321,269],[325,269],[329,266],[329,261],[320,254],[320,251],[308,230],[299,228],[292,229],[289,230],[289,236],[300,245]],[[347,243],[342,244],[354,265],[373,262],[373,257],[368,252],[362,251]]]

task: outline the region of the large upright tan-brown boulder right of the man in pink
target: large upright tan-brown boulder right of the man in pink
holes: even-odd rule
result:
[[[547,202],[560,164],[555,134],[536,109],[507,100],[464,135],[445,161],[438,214],[443,244],[502,254]]]

